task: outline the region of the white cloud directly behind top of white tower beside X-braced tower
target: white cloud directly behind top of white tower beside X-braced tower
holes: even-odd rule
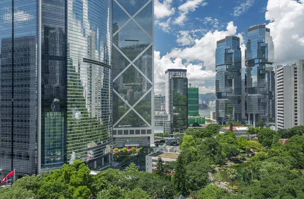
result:
[[[171,60],[168,56],[160,56],[160,52],[154,52],[154,85],[155,93],[165,92],[165,71],[167,69],[187,69],[188,82],[193,86],[202,86],[215,78],[215,72],[202,70],[201,65],[183,64],[182,59]]]

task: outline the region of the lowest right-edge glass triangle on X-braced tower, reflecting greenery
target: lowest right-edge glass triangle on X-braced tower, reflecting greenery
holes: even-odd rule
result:
[[[135,111],[151,124],[151,91],[135,106]]]

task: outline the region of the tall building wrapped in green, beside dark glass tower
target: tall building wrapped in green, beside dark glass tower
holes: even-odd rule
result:
[[[188,116],[199,116],[199,88],[188,87]]]

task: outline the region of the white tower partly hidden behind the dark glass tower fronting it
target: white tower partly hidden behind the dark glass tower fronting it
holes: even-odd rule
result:
[[[168,69],[165,72],[165,109],[166,112],[169,113],[170,106],[170,79],[172,77],[187,77],[186,69]]]

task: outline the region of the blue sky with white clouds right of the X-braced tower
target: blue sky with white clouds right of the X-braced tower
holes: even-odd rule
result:
[[[304,59],[304,0],[155,0],[155,93],[165,94],[165,71],[187,69],[200,93],[215,92],[216,41],[240,37],[245,74],[246,30],[266,24],[275,65]]]

